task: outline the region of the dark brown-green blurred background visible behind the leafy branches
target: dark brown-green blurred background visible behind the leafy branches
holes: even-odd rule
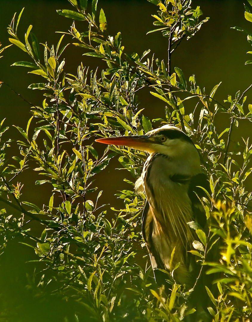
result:
[[[245,62],[251,59],[251,56],[246,54],[251,50],[251,46],[244,33],[230,28],[239,26],[251,32],[252,24],[244,18],[244,6],[241,0],[193,0],[192,6],[197,5],[200,5],[204,17],[210,17],[210,20],[203,24],[201,30],[192,39],[184,40],[180,44],[172,57],[172,68],[181,68],[187,80],[189,76],[195,74],[198,85],[201,88],[205,87],[207,92],[210,92],[221,81],[216,98],[223,102],[227,99],[227,95],[234,96],[237,90],[243,92],[251,83],[251,65],[245,66]],[[73,22],[56,13],[56,9],[73,8],[66,0],[0,0],[0,42],[2,46],[9,44],[9,34],[6,28],[14,13],[19,14],[23,7],[25,10],[18,28],[21,41],[24,39],[28,26],[32,24],[32,31],[40,43],[47,42],[49,47],[52,44],[56,45],[61,34],[55,31],[67,31]],[[145,0],[100,0],[98,12],[101,7],[106,14],[108,32],[113,36],[119,31],[122,33],[125,52],[137,52],[140,55],[150,49],[151,52],[155,52],[156,57],[167,59],[166,38],[159,33],[146,35],[149,30],[154,29],[152,25],[154,18],[151,17],[151,14],[156,14],[154,5]],[[86,24],[77,22],[76,26],[79,31],[84,31]],[[71,38],[65,36],[64,41],[71,43]],[[82,49],[73,45],[68,46],[64,54],[66,72],[75,74],[80,62],[83,62],[85,66],[90,66],[91,69],[96,69],[97,64],[100,63],[99,60],[83,56],[82,53]],[[0,59],[0,81],[7,83],[32,104],[41,105],[43,100],[41,92],[27,89],[29,84],[39,82],[41,78],[27,74],[30,70],[25,67],[10,67],[14,62],[29,60],[28,55],[14,45],[3,54],[4,57]],[[148,89],[139,91],[138,96],[139,109],[145,108],[144,112],[150,119],[165,117],[163,102],[151,96]],[[248,93],[247,102],[251,103],[250,93]],[[192,106],[188,103],[188,109],[191,108]],[[15,95],[8,87],[2,86],[0,89],[0,119],[6,118],[6,125],[12,127],[14,124],[26,128],[27,120],[31,117],[29,111],[29,104]],[[219,122],[222,123],[223,128],[226,122],[228,127],[227,119],[220,119]],[[15,128],[12,128],[11,132],[14,140],[20,139],[19,132]],[[235,142],[241,135],[248,137],[249,134],[250,123],[244,122],[241,128],[234,129],[232,141]],[[15,144],[12,151],[15,155],[17,152]],[[123,183],[125,176],[131,179],[129,175],[126,171],[116,171],[115,167],[118,167],[116,160],[111,162],[100,177],[97,176],[99,188],[106,191],[101,201],[106,202],[108,199],[113,206],[116,200],[114,194],[117,190],[131,189]],[[35,186],[37,179],[34,172],[30,172],[24,176],[21,175],[18,180],[25,182],[23,200],[42,206],[44,202],[48,203],[51,190],[47,184]],[[12,307],[16,309],[19,304],[20,316],[26,317],[26,321],[40,321],[40,318],[41,321],[45,318],[47,321],[60,321],[61,319],[53,318],[55,312],[61,311],[62,314],[65,312],[60,299],[50,297],[50,301],[41,306],[40,302],[33,300],[30,293],[24,289],[25,272],[33,269],[33,265],[26,263],[26,260],[34,257],[32,249],[16,242],[8,244],[7,251],[0,256],[0,295],[5,299],[6,307],[9,307],[10,311]],[[10,312],[7,311],[6,314],[12,321]],[[5,319],[1,320],[1,315],[0,321],[5,321]]]

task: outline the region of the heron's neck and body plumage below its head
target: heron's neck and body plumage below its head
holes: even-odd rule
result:
[[[187,251],[197,239],[187,224],[195,220],[188,196],[189,182],[201,172],[197,150],[190,143],[191,147],[196,152],[194,158],[189,160],[192,166],[188,165],[187,148],[172,155],[153,153],[146,160],[142,175],[136,182],[136,190],[145,192],[148,200],[142,218],[142,231],[152,268],[171,271],[179,262],[176,279],[181,284],[190,282]],[[179,162],[181,157],[187,160],[187,164]],[[171,267],[174,248],[174,265]]]

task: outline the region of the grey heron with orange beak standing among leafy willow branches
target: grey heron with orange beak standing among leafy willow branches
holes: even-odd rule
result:
[[[180,263],[174,278],[179,284],[192,287],[195,264],[188,251],[197,235],[187,223],[196,221],[204,225],[206,217],[200,210],[197,195],[203,192],[199,186],[207,189],[209,185],[192,140],[181,129],[165,125],[146,135],[106,137],[96,141],[150,154],[135,188],[146,194],[142,233],[151,265],[155,273],[156,269],[172,271],[174,265]]]

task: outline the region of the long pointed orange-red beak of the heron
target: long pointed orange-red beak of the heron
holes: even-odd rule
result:
[[[132,147],[136,150],[150,152],[150,145],[153,143],[147,135],[136,135],[132,137],[104,137],[96,139],[96,142],[109,145]]]

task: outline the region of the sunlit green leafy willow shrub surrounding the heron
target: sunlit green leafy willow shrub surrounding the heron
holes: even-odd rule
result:
[[[30,294],[31,306],[34,298],[42,303],[37,320],[39,311],[46,310],[43,303],[50,294],[68,307],[61,315],[65,321],[181,321],[195,314],[195,309],[186,305],[193,290],[177,285],[173,272],[167,273],[168,296],[153,278],[140,228],[146,197],[135,194],[132,186],[146,153],[109,146],[101,154],[93,146],[97,137],[142,135],[169,123],[192,137],[210,180],[211,194],[202,200],[209,228],[203,231],[190,224],[198,235],[191,252],[199,264],[207,266],[206,274],[214,274],[212,281],[217,286],[215,293],[207,288],[208,311],[216,322],[250,321],[252,215],[245,180],[252,171],[252,146],[248,138],[236,139],[232,149],[230,142],[233,128],[243,126],[244,120],[251,121],[252,104],[247,103],[246,93],[252,85],[218,102],[214,95],[219,84],[206,93],[194,75],[188,80],[179,68],[171,70],[171,55],[176,54],[177,45],[194,36],[207,21],[189,0],[149,0],[155,19],[155,29],[150,32],[166,37],[168,59],[156,58],[149,50],[143,55],[126,53],[121,33],[107,33],[106,15],[103,9],[96,11],[97,0],[68,1],[73,10],[58,10],[58,14],[83,22],[85,31],[78,31],[73,22],[55,46],[39,44],[32,25],[25,37],[17,35],[23,10],[8,28],[10,42],[27,54],[27,62],[14,65],[39,75],[41,82],[29,88],[43,90],[45,96],[39,106],[31,107],[27,127],[16,127],[20,154],[13,156],[13,164],[6,153],[14,142],[2,137],[8,130],[3,122],[0,129],[0,200],[9,209],[7,213],[1,210],[1,252],[13,239],[34,250],[37,260],[31,264],[35,273],[27,275],[25,294]],[[252,22],[250,9],[245,7],[245,18]],[[251,33],[235,28],[245,32],[252,44]],[[61,45],[64,36],[74,39],[73,44],[84,55],[105,61],[107,68],[89,71],[81,63],[77,74],[66,74],[65,47]],[[144,87],[162,100],[165,119],[151,121],[138,109],[136,91]],[[195,106],[191,114],[186,112],[189,99]],[[220,113],[230,119],[230,125],[217,130],[215,120]],[[116,194],[124,201],[124,209],[98,201],[102,191],[97,190],[95,179],[112,158],[118,158],[132,175],[132,182],[127,180],[129,190]],[[30,171],[41,175],[35,184],[45,184],[51,192],[43,209],[21,195],[19,176]],[[90,196],[96,197],[91,200]],[[38,235],[37,225],[27,228],[28,221],[37,222],[42,233]],[[209,262],[207,255],[213,250],[216,259]],[[146,264],[137,257],[139,253]],[[10,309],[5,294],[1,298],[3,321],[25,321],[20,305]]]

